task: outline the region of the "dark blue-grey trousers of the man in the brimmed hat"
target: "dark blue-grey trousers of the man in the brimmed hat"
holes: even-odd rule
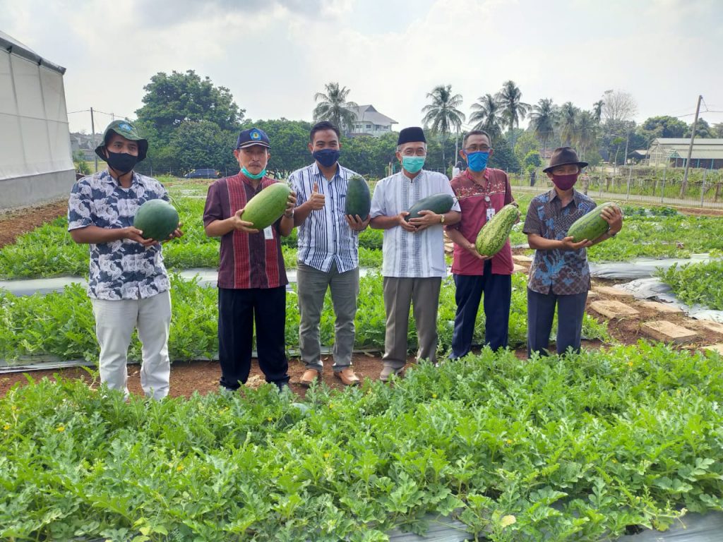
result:
[[[570,347],[579,352],[586,301],[587,292],[557,296],[552,292],[537,293],[527,288],[527,356],[533,352],[542,355],[549,353],[549,332],[552,331],[555,305],[557,353],[564,353]]]

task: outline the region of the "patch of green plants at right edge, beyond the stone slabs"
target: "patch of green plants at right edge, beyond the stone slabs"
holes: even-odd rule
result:
[[[678,298],[689,305],[701,304],[723,311],[723,260],[704,264],[674,264],[658,276]]]

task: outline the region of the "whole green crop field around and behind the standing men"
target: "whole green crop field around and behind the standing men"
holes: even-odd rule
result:
[[[163,181],[186,234],[163,249],[174,306],[173,392],[190,361],[218,350],[215,288],[179,275],[218,265],[218,240],[202,229],[208,185]],[[517,194],[522,218],[513,245],[526,242],[531,198]],[[592,261],[722,254],[722,216],[623,211],[623,231],[592,247]],[[87,247],[74,244],[66,227],[55,218],[2,246],[0,279],[86,276]],[[403,378],[382,384],[382,232],[367,229],[359,243],[366,270],[356,316],[359,387],[341,389],[325,377],[301,392],[294,382],[301,367],[295,285],[286,302],[291,392],[279,395],[254,369],[253,386],[220,393],[212,361],[194,362],[204,369],[187,373],[190,387],[158,403],[125,401],[99,387],[93,369],[83,377],[77,370],[0,374],[0,539],[374,542],[389,540],[393,528],[427,532],[443,517],[463,525],[470,540],[533,542],[554,533],[555,541],[614,541],[666,530],[686,512],[723,511],[723,365],[719,353],[701,348],[723,342],[723,334],[696,327],[688,343],[656,343],[642,332],[659,318],[652,309],[629,299],[639,317],[609,319],[591,305],[608,298],[596,293],[582,353],[527,360],[522,269],[513,275],[510,350],[411,364]],[[283,254],[294,268],[296,231]],[[515,254],[531,251],[520,246]],[[683,301],[723,309],[720,260],[660,276]],[[454,314],[448,278],[437,323],[442,360]],[[666,319],[694,324],[683,314]],[[6,363],[93,362],[94,324],[82,285],[33,296],[0,288]],[[329,297],[321,338],[333,345]],[[484,314],[475,340],[484,340]],[[135,338],[129,358],[140,358]]]

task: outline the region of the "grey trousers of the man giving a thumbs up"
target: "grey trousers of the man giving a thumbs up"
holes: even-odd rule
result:
[[[343,273],[336,264],[328,272],[320,271],[299,262],[296,268],[296,293],[299,296],[299,348],[301,361],[307,369],[321,371],[321,342],[319,322],[324,308],[324,296],[331,291],[334,307],[334,366],[341,371],[351,365],[354,349],[354,317],[356,298],[359,296],[359,267]]]

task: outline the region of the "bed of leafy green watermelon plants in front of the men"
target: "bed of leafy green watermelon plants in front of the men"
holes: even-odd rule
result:
[[[721,361],[484,350],[303,407],[268,385],[125,403],[43,379],[0,399],[0,538],[388,541],[427,512],[495,542],[665,530],[723,509]]]

